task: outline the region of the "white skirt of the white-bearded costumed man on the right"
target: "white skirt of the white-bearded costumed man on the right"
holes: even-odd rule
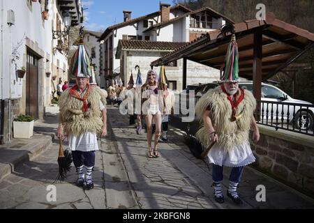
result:
[[[210,163],[219,165],[220,167],[242,167],[255,162],[251,146],[248,141],[227,151],[215,144],[208,153]]]

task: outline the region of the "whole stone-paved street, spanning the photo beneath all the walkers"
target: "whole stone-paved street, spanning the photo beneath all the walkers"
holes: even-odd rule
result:
[[[147,157],[144,130],[135,134],[127,116],[108,107],[108,136],[99,140],[93,172],[94,190],[75,185],[73,167],[63,183],[55,183],[57,201],[46,199],[47,185],[57,176],[59,144],[52,141],[40,155],[15,167],[0,182],[0,208],[314,208],[313,200],[247,167],[239,187],[244,206],[214,201],[211,188],[211,167],[197,160],[184,144],[183,132],[170,127],[169,141],[159,144],[160,157]],[[36,122],[36,131],[52,135],[57,118]],[[65,146],[66,147],[66,146]],[[224,193],[227,176],[224,170]],[[257,202],[257,185],[265,185],[266,202]]]

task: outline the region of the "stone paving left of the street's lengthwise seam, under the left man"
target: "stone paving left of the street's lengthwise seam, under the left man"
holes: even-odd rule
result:
[[[57,119],[47,119],[50,124],[37,123],[40,126],[37,130],[52,134],[52,130],[57,129]],[[72,167],[64,182],[54,183],[57,201],[47,201],[47,186],[54,182],[58,172],[59,142],[54,140],[43,153],[20,164],[13,174],[0,182],[0,208],[137,208],[126,171],[110,136],[99,140],[98,146],[93,190],[82,190],[75,185],[77,174]]]

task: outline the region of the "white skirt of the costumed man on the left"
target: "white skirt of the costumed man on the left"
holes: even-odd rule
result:
[[[98,151],[97,135],[93,132],[85,132],[79,136],[69,134],[68,146],[71,151]]]

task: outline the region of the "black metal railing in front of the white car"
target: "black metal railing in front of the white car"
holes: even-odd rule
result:
[[[180,106],[181,95],[177,99],[180,100],[179,102],[175,102],[175,105]],[[195,96],[195,104],[198,100],[200,100],[200,96]],[[187,96],[186,107],[188,107],[188,105]],[[276,130],[282,129],[314,136],[314,105],[266,100],[257,101],[257,105],[260,105],[257,106],[255,111],[259,114],[257,116],[258,124],[273,127]],[[188,114],[176,114],[173,116],[181,119],[183,116],[188,116]],[[186,130],[186,128],[189,128],[189,126],[193,124],[178,123],[178,125],[182,130]]]

